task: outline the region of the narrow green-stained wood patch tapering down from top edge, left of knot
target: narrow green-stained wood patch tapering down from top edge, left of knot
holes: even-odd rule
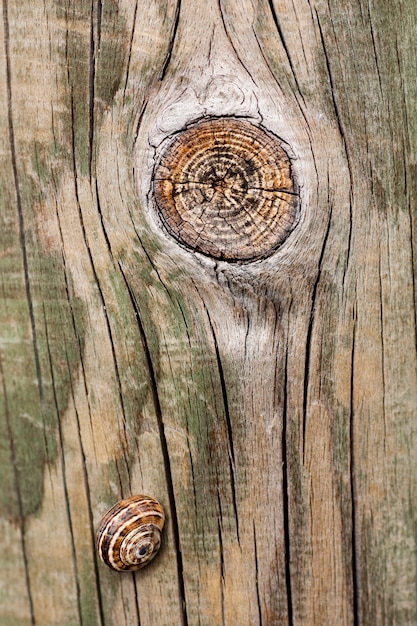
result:
[[[56,2],[57,17],[67,24],[59,58],[66,108],[63,127],[82,176],[94,171],[95,141],[103,107],[112,104],[125,74],[129,42],[118,4],[104,0],[100,13],[98,6],[76,2],[63,7],[62,2]],[[70,59],[77,62],[71,63]]]

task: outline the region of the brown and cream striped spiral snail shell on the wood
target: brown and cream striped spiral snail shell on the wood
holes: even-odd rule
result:
[[[147,565],[161,545],[165,515],[150,496],[120,500],[104,515],[97,531],[100,559],[117,572],[132,572]]]

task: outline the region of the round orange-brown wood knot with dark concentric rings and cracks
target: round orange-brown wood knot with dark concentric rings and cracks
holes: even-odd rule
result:
[[[299,215],[298,188],[279,140],[232,118],[178,134],[155,167],[154,193],[162,223],[179,243],[231,262],[272,254]]]

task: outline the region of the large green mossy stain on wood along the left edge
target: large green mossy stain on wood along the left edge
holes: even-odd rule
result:
[[[5,392],[0,510],[16,518],[33,513],[41,504],[44,467],[56,456],[58,420],[65,414],[71,377],[80,362],[84,326],[82,305],[67,290],[62,258],[36,247],[29,228],[33,193],[24,180],[26,277],[16,202],[0,209],[4,251],[0,254],[0,354]]]

